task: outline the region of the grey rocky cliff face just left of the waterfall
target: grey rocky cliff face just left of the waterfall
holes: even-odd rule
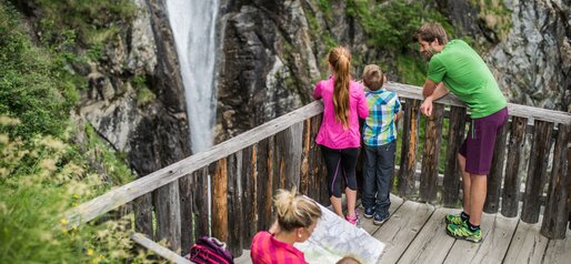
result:
[[[131,167],[146,175],[190,155],[189,129],[177,53],[161,0],[136,0],[139,16],[91,64],[80,113]],[[133,78],[156,100],[141,102]]]

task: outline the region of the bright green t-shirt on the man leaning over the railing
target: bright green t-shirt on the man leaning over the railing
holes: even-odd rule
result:
[[[472,119],[488,116],[508,105],[485,62],[462,40],[448,42],[430,59],[428,79],[443,82],[470,108]]]

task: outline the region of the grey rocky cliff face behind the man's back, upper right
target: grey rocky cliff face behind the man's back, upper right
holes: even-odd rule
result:
[[[571,110],[571,10],[569,1],[510,0],[511,30],[485,55],[510,101]]]

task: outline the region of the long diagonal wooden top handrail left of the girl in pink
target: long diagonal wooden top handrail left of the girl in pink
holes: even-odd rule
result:
[[[320,101],[312,102],[293,112],[287,113],[268,123],[259,125],[247,133],[239,134],[228,141],[217,144],[203,152],[191,155],[163,169],[160,169],[147,176],[140,177],[120,187],[113,189],[106,194],[89,202],[82,203],[66,211],[62,217],[68,220],[68,225],[79,225],[109,212],[112,209],[131,202],[142,194],[149,193],[160,186],[177,181],[179,177],[207,166],[222,158],[230,155],[241,149],[252,145],[262,139],[273,135],[302,120],[318,115],[323,111]]]

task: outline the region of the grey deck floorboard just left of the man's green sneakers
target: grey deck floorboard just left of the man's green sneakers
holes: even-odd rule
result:
[[[454,244],[454,240],[445,233],[444,216],[447,214],[459,213],[459,210],[438,209],[430,216],[427,224],[414,237],[399,263],[442,263],[448,252]]]

